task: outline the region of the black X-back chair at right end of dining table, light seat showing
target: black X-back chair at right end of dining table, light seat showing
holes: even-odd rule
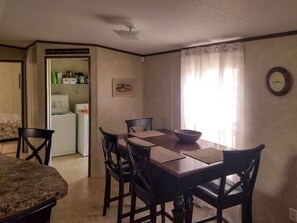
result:
[[[223,151],[221,177],[193,189],[193,195],[215,207],[217,214],[196,223],[228,222],[223,218],[223,210],[236,205],[242,207],[242,222],[252,222],[252,197],[264,147],[261,144],[247,150]]]

